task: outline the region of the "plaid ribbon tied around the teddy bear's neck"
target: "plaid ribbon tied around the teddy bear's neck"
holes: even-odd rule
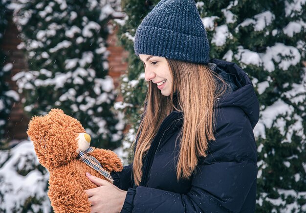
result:
[[[87,153],[90,153],[94,150],[94,147],[89,147],[85,151],[80,150],[79,153],[79,160],[86,163],[89,167],[91,167],[94,170],[97,170],[100,174],[102,174],[104,177],[106,177],[108,180],[110,180],[111,183],[113,183],[113,179],[110,176],[110,172],[103,169],[100,162],[93,156],[87,155]]]

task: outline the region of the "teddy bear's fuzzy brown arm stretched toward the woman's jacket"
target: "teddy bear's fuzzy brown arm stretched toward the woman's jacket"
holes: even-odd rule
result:
[[[120,158],[111,150],[94,149],[90,155],[95,157],[101,163],[102,167],[109,172],[121,171],[123,169]]]

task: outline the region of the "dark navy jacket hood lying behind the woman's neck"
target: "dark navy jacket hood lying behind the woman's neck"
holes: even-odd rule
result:
[[[250,78],[235,63],[218,59],[211,59],[210,63],[217,64],[218,68],[234,76],[237,89],[227,93],[218,99],[216,108],[226,106],[239,106],[248,116],[251,126],[254,129],[259,120],[259,102]]]

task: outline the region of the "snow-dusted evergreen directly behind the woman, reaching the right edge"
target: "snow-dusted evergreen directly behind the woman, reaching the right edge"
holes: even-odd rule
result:
[[[134,55],[133,38],[158,0],[123,0],[117,21],[120,43],[130,52],[120,103],[127,123],[138,124],[147,84]],[[306,211],[306,10],[305,0],[198,1],[211,41],[211,58],[239,64],[251,78],[261,117],[258,145],[258,213]],[[126,141],[134,139],[133,125]],[[304,167],[303,167],[304,165]]]

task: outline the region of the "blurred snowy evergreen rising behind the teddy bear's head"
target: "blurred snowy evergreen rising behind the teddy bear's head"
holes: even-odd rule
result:
[[[111,109],[114,86],[108,76],[106,39],[116,0],[18,0],[14,22],[21,32],[29,71],[13,77],[24,110],[44,115],[61,108],[78,119],[92,146],[114,149],[122,125]]]

